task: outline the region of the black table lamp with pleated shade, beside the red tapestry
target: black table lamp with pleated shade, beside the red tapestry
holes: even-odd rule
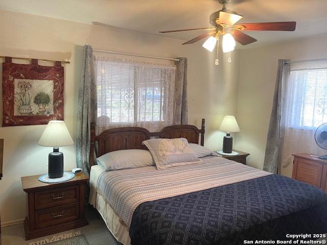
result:
[[[50,179],[61,178],[63,176],[63,154],[59,152],[59,147],[74,144],[65,122],[49,121],[38,144],[53,147],[53,152],[49,154],[48,175]]]

